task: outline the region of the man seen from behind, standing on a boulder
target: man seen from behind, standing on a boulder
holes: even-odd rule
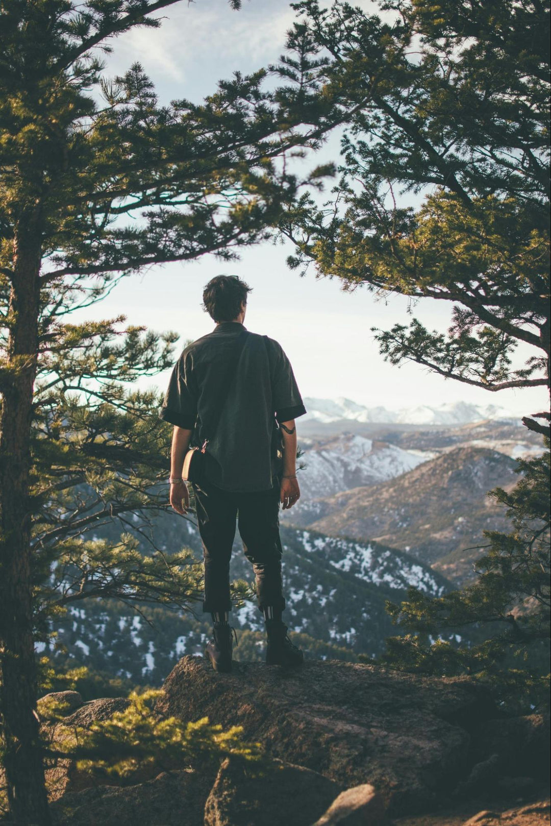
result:
[[[244,326],[249,292],[235,276],[208,282],[203,307],[216,327],[183,350],[159,411],[174,425],[170,504],[179,514],[189,507],[184,458],[190,445],[204,446],[207,425],[216,420],[214,434],[212,425],[208,434],[202,481],[192,487],[205,567],[202,609],[211,613],[214,626],[205,653],[218,672],[231,671],[230,557],[236,519],[264,613],[266,662],[295,666],[303,661],[282,619],[279,506],[290,508],[300,496],[295,419],[306,409],[281,345]]]

